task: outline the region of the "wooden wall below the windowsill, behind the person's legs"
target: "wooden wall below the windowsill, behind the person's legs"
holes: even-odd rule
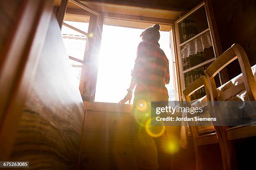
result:
[[[138,162],[131,144],[130,121],[133,119],[131,106],[117,103],[94,102],[87,105],[81,145],[80,169],[92,170],[137,170]],[[175,148],[171,153],[173,169],[195,169],[193,145],[185,154],[179,148],[180,126],[167,126],[167,135]],[[190,141],[192,144],[192,141]],[[141,147],[147,150],[145,157],[150,160],[152,170],[157,170],[157,151],[154,140],[143,136]],[[178,156],[178,159],[176,158]],[[184,157],[186,156],[186,157]],[[184,159],[186,164],[184,164]]]

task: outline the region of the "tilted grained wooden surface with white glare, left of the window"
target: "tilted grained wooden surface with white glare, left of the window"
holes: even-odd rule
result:
[[[71,69],[53,15],[11,160],[30,161],[31,169],[77,169],[84,105]]]

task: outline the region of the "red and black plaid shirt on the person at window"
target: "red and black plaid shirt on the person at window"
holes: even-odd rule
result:
[[[170,81],[169,61],[156,41],[141,42],[131,74],[136,78],[135,94],[157,92],[168,95],[165,84]]]

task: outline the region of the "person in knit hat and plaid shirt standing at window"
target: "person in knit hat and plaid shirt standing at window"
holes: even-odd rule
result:
[[[134,119],[131,121],[131,142],[134,145],[140,169],[151,168],[150,161],[146,159],[148,155],[143,148],[143,143],[145,143],[143,133],[148,132],[151,101],[168,101],[165,84],[168,84],[170,80],[169,61],[158,43],[159,30],[160,25],[155,24],[146,28],[140,35],[142,41],[138,45],[131,84],[127,89],[127,95],[119,102],[123,104],[129,101],[130,103],[133,88],[136,85],[132,107]],[[168,144],[166,130],[161,134],[148,133],[148,135],[153,137],[156,144],[159,170],[170,170],[171,159],[166,152]]]

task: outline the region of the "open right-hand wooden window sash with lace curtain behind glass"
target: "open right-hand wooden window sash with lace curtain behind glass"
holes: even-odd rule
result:
[[[179,18],[175,22],[175,35],[179,63],[177,66],[183,91],[204,75],[207,66],[222,52],[210,1],[202,2]],[[222,84],[227,80],[226,75],[221,74],[217,82]],[[191,100],[204,95],[205,89],[202,87],[191,95]]]

